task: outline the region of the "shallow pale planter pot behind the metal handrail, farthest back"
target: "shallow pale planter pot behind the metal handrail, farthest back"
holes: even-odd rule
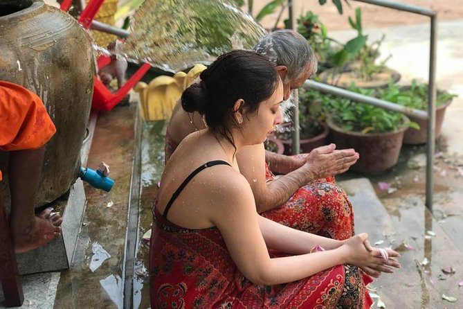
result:
[[[329,85],[335,85],[345,89],[349,88],[352,82],[355,82],[355,86],[358,88],[377,89],[388,87],[391,78],[394,84],[399,82],[401,75],[395,70],[385,68],[380,73],[374,73],[372,80],[364,81],[356,77],[353,69],[345,67],[341,70],[339,68],[327,69],[320,73],[318,78],[320,78],[320,81]]]

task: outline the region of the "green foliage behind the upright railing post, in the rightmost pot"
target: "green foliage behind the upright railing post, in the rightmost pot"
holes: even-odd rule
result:
[[[390,82],[387,88],[378,89],[376,96],[410,108],[428,108],[428,85],[417,80],[412,80],[410,87],[401,87]],[[437,91],[436,106],[439,107],[455,97],[457,95],[447,91]]]

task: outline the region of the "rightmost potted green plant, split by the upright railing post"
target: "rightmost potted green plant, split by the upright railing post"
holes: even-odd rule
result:
[[[397,103],[406,107],[414,109],[428,109],[428,85],[412,80],[410,86],[400,87],[390,83],[388,88],[378,89],[376,96],[383,100],[388,100],[392,103]],[[436,125],[435,136],[440,136],[442,122],[446,108],[452,103],[455,94],[450,94],[447,91],[437,91],[436,98]],[[403,136],[403,143],[410,145],[417,145],[426,143],[427,140],[427,127],[428,121],[416,117],[410,117],[410,120],[419,125],[419,130],[415,128],[408,129]]]

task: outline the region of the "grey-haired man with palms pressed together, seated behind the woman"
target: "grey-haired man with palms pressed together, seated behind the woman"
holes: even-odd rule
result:
[[[317,68],[307,40],[293,30],[279,30],[260,39],[255,51],[275,62],[284,85],[284,100],[302,87]],[[251,86],[251,85],[250,85]],[[177,103],[166,134],[166,160],[180,141],[205,127],[201,115],[188,114]],[[352,205],[334,177],[358,159],[354,150],[336,150],[334,144],[300,156],[264,150],[264,144],[237,154],[239,170],[253,190],[257,211],[289,227],[344,240],[354,233]],[[284,174],[275,179],[273,173]]]

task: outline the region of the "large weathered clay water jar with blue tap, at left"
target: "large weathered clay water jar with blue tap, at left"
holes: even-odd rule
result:
[[[57,128],[46,145],[41,206],[66,193],[78,176],[93,94],[91,41],[73,17],[42,0],[2,0],[0,46],[0,80],[35,92]],[[0,154],[2,171],[7,155]],[[8,203],[8,188],[4,193]]]

